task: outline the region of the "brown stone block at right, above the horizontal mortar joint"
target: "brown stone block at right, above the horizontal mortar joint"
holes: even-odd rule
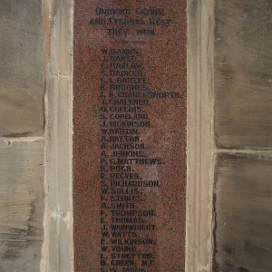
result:
[[[217,144],[220,148],[271,148],[272,2],[215,2]]]

